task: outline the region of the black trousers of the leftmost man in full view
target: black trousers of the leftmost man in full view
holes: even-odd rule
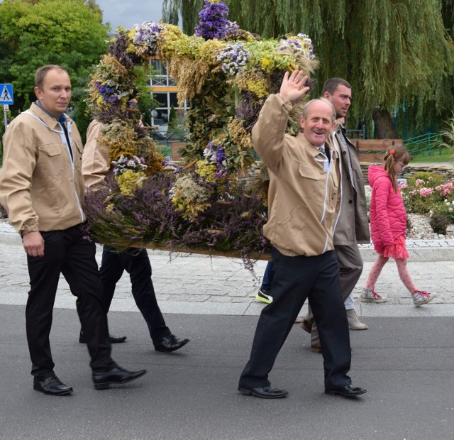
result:
[[[87,339],[92,370],[114,368],[95,244],[82,238],[78,226],[41,232],[41,235],[45,242],[44,256],[27,255],[31,290],[26,306],[26,330],[32,375],[47,378],[53,374],[55,364],[49,334],[60,273],[71,292],[77,295],[77,313]]]

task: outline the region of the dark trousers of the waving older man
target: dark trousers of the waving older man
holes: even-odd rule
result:
[[[272,260],[275,264],[272,303],[260,314],[240,386],[270,385],[268,373],[306,298],[311,302],[319,327],[325,388],[349,385],[350,336],[334,252],[287,257],[272,248]]]

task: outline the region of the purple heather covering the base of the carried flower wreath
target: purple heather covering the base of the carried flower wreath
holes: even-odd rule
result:
[[[238,181],[227,182],[225,187],[218,185],[211,206],[194,221],[188,221],[175,211],[169,197],[175,178],[170,173],[149,177],[136,190],[135,197],[125,197],[118,193],[118,184],[109,173],[99,192],[87,194],[85,211],[89,223],[84,235],[90,233],[95,241],[113,246],[127,243],[126,246],[148,245],[169,250],[213,249],[240,256],[249,268],[253,268],[255,255],[269,253],[269,243],[262,235],[266,219],[256,214],[265,207],[257,194],[246,192]],[[218,199],[232,203],[218,204]]]

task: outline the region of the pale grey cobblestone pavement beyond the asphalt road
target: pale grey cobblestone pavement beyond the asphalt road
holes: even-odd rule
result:
[[[397,275],[392,260],[384,267],[375,290],[387,296],[382,304],[360,302],[362,286],[375,260],[370,245],[361,245],[364,270],[353,292],[358,315],[363,317],[414,317],[454,315],[454,240],[407,241],[409,271],[416,287],[435,292],[431,304],[416,308]],[[255,274],[236,258],[148,251],[157,300],[164,313],[258,315],[264,304],[255,300],[265,261]],[[101,246],[96,252],[101,262]],[[26,304],[28,273],[20,237],[9,225],[0,225],[0,304]],[[62,278],[55,307],[75,308],[75,299]],[[118,282],[111,310],[137,311],[128,274]],[[301,313],[306,311],[306,305]]]

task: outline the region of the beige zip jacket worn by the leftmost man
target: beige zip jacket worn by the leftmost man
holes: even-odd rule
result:
[[[3,138],[0,203],[19,233],[55,231],[85,221],[82,140],[67,117],[70,151],[60,123],[31,104]]]

